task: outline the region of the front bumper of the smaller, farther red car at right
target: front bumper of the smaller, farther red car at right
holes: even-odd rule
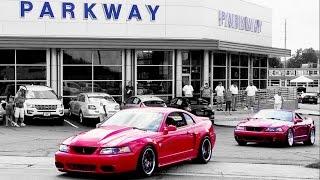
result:
[[[255,132],[255,131],[234,131],[234,138],[245,142],[285,142],[285,132]]]

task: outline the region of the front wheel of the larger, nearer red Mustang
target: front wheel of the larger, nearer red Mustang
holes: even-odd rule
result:
[[[141,177],[150,177],[158,168],[157,155],[152,146],[146,146],[139,156],[137,173]]]

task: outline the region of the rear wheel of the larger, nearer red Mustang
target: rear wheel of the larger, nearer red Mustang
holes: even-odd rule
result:
[[[202,139],[196,161],[201,164],[207,164],[212,156],[212,143],[209,137]]]

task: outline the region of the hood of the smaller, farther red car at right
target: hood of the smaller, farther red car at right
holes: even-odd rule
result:
[[[246,126],[246,127],[281,127],[281,126],[289,126],[291,124],[292,122],[288,122],[288,121],[271,120],[271,119],[251,119],[239,125]]]

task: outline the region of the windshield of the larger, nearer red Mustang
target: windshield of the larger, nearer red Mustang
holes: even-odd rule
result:
[[[159,112],[119,111],[106,120],[101,126],[128,126],[156,132],[160,127],[162,119],[163,114]]]

